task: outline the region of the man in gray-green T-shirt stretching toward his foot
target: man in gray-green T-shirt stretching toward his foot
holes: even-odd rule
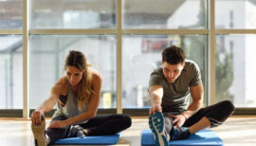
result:
[[[204,89],[199,67],[186,60],[184,51],[177,46],[163,50],[162,66],[150,77],[149,95],[149,125],[157,146],[168,146],[170,140],[216,127],[234,111],[229,100],[202,108]]]

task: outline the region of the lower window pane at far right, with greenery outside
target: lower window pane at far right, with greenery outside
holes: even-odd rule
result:
[[[216,36],[215,100],[232,100],[236,107],[255,107],[256,35]]]

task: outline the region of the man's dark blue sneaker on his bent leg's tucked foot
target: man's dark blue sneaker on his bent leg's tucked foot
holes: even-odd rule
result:
[[[171,131],[171,140],[175,139],[185,139],[190,137],[192,134],[190,133],[187,127],[175,127]]]

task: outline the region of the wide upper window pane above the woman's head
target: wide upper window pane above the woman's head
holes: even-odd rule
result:
[[[32,0],[30,28],[114,28],[116,0]]]

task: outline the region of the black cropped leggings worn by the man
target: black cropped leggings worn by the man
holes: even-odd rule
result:
[[[200,119],[206,117],[210,120],[210,128],[221,125],[234,112],[234,105],[229,100],[223,100],[216,104],[200,109],[192,117],[187,119],[183,127],[190,127]],[[170,134],[173,128],[173,118],[164,113],[165,130]]]

